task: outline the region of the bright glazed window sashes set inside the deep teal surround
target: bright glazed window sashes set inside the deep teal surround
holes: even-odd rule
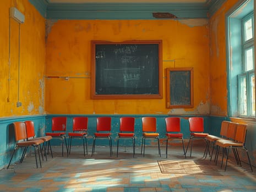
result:
[[[255,117],[253,14],[242,19],[242,74],[238,74],[240,117]]]

